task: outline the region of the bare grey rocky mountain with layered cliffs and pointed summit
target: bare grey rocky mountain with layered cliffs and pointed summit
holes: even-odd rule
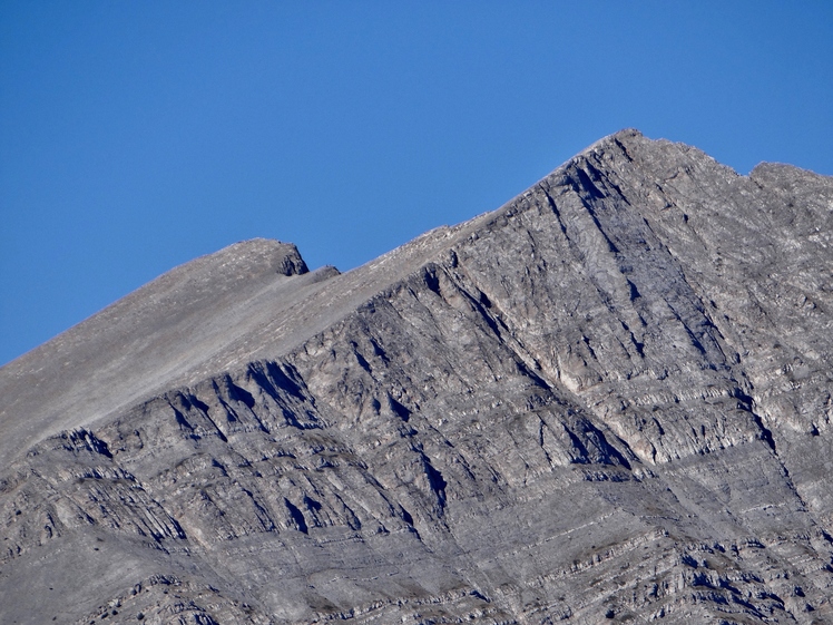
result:
[[[0,622],[833,623],[833,178],[636,130],[0,369]]]

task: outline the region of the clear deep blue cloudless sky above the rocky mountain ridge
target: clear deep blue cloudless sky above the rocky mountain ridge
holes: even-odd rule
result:
[[[833,2],[0,0],[0,363],[236,241],[349,270],[624,127],[833,175]]]

